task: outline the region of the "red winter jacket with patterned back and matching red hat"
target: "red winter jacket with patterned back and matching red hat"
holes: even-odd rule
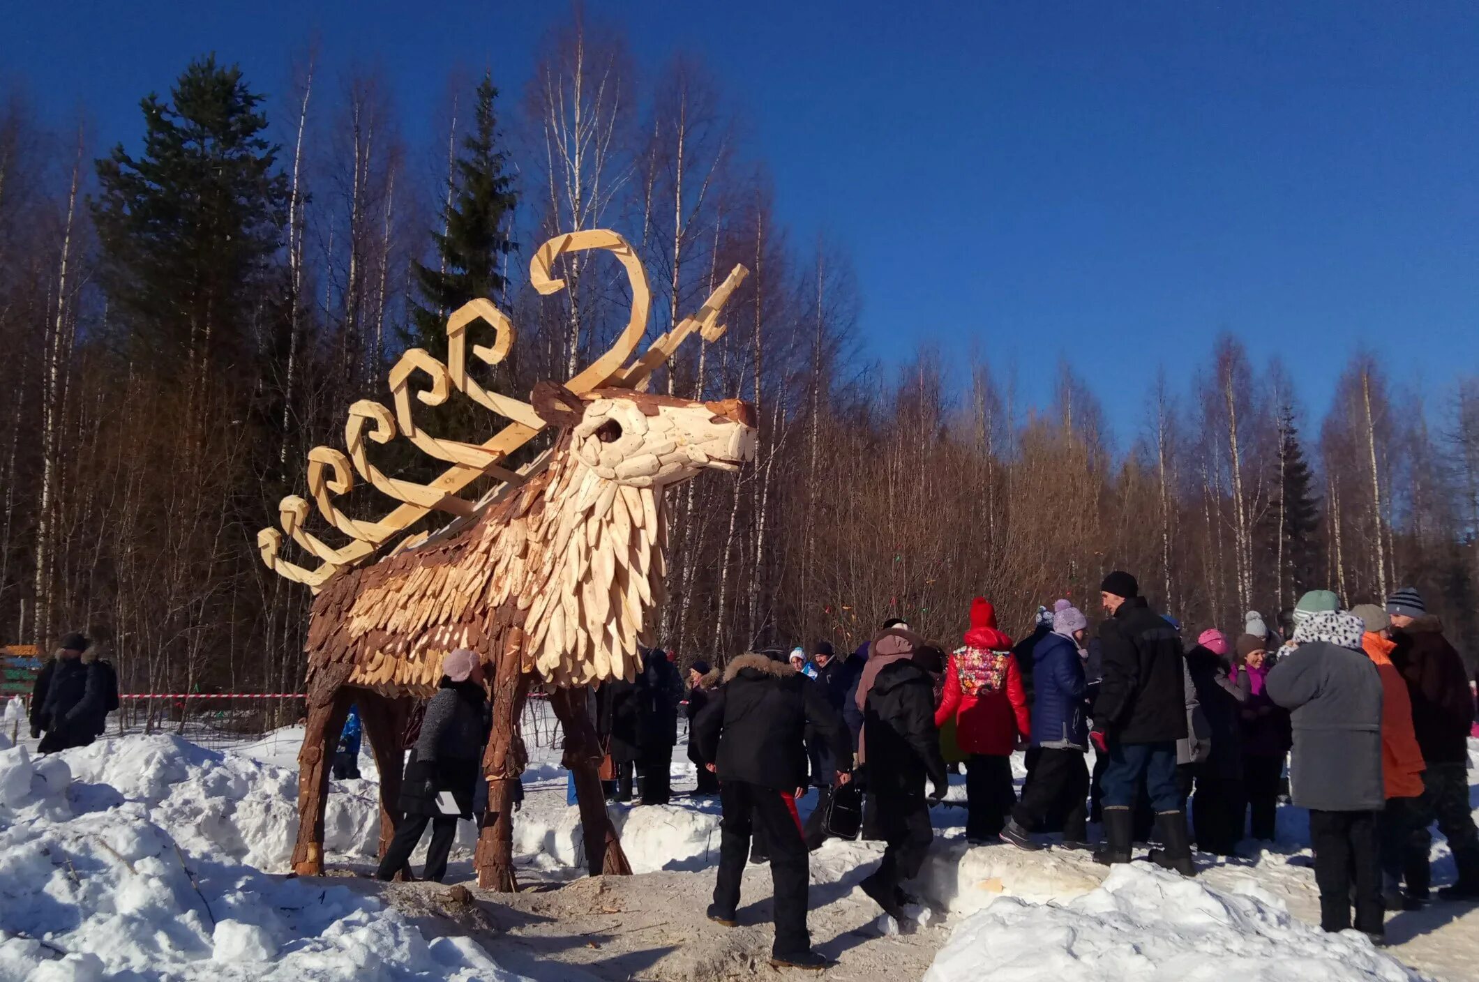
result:
[[[997,612],[984,599],[970,605],[966,645],[950,657],[945,694],[935,725],[955,720],[955,742],[967,754],[1004,757],[1032,732],[1022,673],[1012,639],[997,630]]]

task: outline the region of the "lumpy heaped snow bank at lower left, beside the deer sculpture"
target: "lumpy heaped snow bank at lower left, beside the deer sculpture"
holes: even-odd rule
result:
[[[346,886],[246,865],[291,846],[266,799],[291,807],[293,775],[253,768],[170,736],[0,750],[0,979],[519,978]]]

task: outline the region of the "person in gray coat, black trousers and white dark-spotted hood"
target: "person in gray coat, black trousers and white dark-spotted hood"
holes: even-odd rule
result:
[[[1356,930],[1380,944],[1381,676],[1361,648],[1364,633],[1349,611],[1310,615],[1294,627],[1294,648],[1265,691],[1294,723],[1290,796],[1309,809],[1319,926],[1349,929],[1355,899]]]

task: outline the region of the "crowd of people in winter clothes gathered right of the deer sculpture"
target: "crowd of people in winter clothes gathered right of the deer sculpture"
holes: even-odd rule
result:
[[[976,597],[948,654],[895,618],[840,657],[821,642],[810,660],[745,654],[722,679],[703,666],[689,754],[717,778],[723,806],[710,918],[734,923],[759,840],[774,871],[775,963],[827,967],[806,932],[806,850],[831,831],[833,803],[861,788],[862,834],[884,843],[861,887],[902,918],[933,840],[930,806],[960,765],[970,843],[1038,850],[1056,836],[1087,850],[1094,821],[1096,862],[1130,862],[1146,843],[1146,859],[1195,876],[1198,850],[1235,856],[1248,837],[1275,840],[1287,793],[1309,813],[1325,930],[1355,926],[1381,944],[1386,911],[1429,904],[1435,822],[1458,874],[1436,896],[1479,902],[1475,697],[1417,590],[1353,609],[1313,590],[1288,612],[1287,640],[1256,611],[1236,637],[1208,627],[1183,640],[1123,571],[1105,577],[1100,603],[1093,637],[1059,599],[1013,645]],[[821,794],[803,825],[808,781]]]

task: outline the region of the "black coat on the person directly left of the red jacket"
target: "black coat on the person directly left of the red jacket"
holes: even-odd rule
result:
[[[935,728],[935,679],[914,661],[896,661],[874,679],[864,708],[868,793],[877,800],[923,799],[924,782],[945,788],[945,759]]]

